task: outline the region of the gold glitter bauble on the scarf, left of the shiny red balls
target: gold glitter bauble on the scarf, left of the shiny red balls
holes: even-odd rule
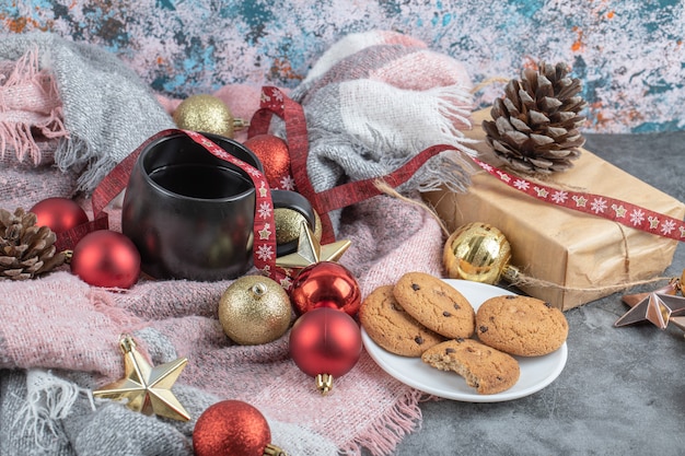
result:
[[[219,321],[236,343],[256,346],[286,334],[292,317],[290,297],[275,280],[243,276],[229,285],[219,302]]]

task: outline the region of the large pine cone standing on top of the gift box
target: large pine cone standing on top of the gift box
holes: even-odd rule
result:
[[[492,120],[484,121],[486,141],[514,169],[526,174],[552,174],[573,166],[585,143],[579,113],[587,106],[578,95],[579,79],[568,75],[565,63],[525,69],[511,80],[504,96],[492,104]]]

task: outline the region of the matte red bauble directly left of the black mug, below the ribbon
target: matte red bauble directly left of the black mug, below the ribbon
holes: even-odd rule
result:
[[[71,272],[94,287],[129,289],[140,274],[140,254],[124,234],[94,231],[73,248]]]

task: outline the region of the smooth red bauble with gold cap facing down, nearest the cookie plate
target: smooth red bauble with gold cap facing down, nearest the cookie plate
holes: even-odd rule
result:
[[[290,331],[290,356],[315,377],[347,374],[361,356],[361,330],[345,312],[321,307],[298,318]]]

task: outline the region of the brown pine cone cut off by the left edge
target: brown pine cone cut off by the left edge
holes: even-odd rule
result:
[[[48,226],[36,226],[36,215],[16,209],[0,209],[0,279],[26,280],[65,262],[56,252],[56,234]]]

